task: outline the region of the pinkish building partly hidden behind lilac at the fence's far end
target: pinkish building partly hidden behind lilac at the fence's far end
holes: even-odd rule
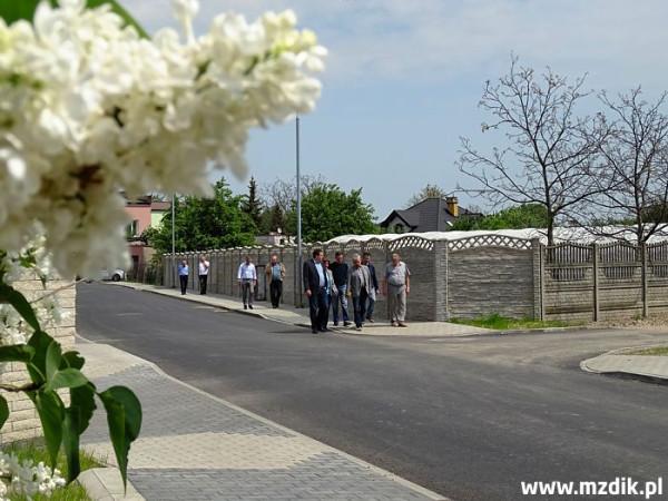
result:
[[[131,220],[126,227],[131,259],[131,268],[128,271],[130,277],[136,277],[154,254],[153,247],[141,239],[141,234],[148,228],[159,227],[163,216],[170,209],[171,203],[156,200],[151,195],[126,202],[126,213]]]

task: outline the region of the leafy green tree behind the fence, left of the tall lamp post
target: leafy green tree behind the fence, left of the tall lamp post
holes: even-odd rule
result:
[[[257,228],[242,210],[243,196],[233,195],[225,179],[214,186],[213,198],[185,197],[175,204],[176,252],[253,245]],[[171,252],[171,212],[159,228],[143,238],[158,253]]]

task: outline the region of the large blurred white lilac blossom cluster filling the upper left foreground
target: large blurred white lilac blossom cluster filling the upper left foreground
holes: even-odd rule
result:
[[[0,20],[0,249],[43,235],[66,277],[126,255],[122,193],[206,195],[213,168],[243,175],[248,130],[311,111],[325,49],[292,11],[225,13],[196,38],[140,38],[108,6],[43,1]]]

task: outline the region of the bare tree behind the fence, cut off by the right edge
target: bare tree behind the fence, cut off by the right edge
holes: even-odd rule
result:
[[[640,88],[617,99],[600,94],[611,131],[599,145],[599,189],[590,207],[603,222],[630,224],[639,245],[668,220],[668,116],[661,110],[666,96],[648,102]],[[592,230],[611,237],[628,233],[623,226],[611,225]]]

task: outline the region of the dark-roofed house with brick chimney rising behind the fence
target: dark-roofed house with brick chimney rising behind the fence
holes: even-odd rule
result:
[[[460,217],[480,217],[479,213],[460,207],[456,197],[433,197],[407,209],[394,209],[381,222],[386,233],[448,232]]]

